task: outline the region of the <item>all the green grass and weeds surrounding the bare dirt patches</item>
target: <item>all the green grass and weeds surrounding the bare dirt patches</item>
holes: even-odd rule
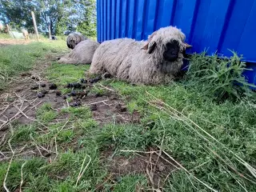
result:
[[[63,42],[1,48],[2,87],[60,47]],[[256,191],[255,95],[247,89],[241,76],[244,66],[238,61],[236,55],[220,61],[201,54],[192,58],[184,78],[167,86],[133,86],[113,79],[94,85],[100,93],[106,91],[103,87],[117,91],[130,114],[141,115],[139,123],[121,125],[113,117],[113,123],[99,126],[87,106],[54,110],[45,103],[37,110],[36,121],[14,123],[0,146],[0,151],[10,152],[0,163],[2,190],[5,183],[10,191],[22,187],[22,191],[130,192],[156,191],[158,186],[177,192]],[[88,68],[53,62],[46,76],[65,92],[66,82],[82,78]],[[60,117],[66,120],[54,121]],[[41,146],[51,146],[50,151],[41,150],[36,157],[15,154],[22,147]],[[107,160],[106,152],[111,154]],[[149,163],[154,154],[167,162],[160,185],[154,182],[154,168],[114,176],[108,168],[115,157],[144,156]]]

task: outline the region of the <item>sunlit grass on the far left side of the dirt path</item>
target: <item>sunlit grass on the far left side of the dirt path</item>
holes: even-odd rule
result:
[[[0,49],[0,89],[3,89],[14,75],[30,70],[46,54],[65,50],[65,42],[31,42],[27,45],[2,46]]]

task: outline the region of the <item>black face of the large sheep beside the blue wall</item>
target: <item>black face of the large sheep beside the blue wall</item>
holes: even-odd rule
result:
[[[163,58],[168,62],[174,62],[178,58],[179,43],[176,40],[166,44],[166,50],[163,53]]]

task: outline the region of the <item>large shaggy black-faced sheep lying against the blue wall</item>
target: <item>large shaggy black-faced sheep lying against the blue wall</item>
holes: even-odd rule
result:
[[[151,34],[147,42],[119,38],[102,42],[94,53],[88,74],[109,73],[135,84],[161,84],[174,79],[189,45],[185,34],[173,26]]]

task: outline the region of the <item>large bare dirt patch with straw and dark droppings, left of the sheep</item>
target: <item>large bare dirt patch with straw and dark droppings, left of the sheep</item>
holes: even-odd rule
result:
[[[49,61],[50,59],[50,61]],[[138,122],[139,114],[130,114],[126,110],[125,103],[118,96],[115,90],[102,86],[106,89],[104,94],[90,93],[94,82],[82,83],[81,92],[74,89],[73,101],[68,102],[64,95],[58,91],[58,87],[51,87],[52,84],[45,78],[44,70],[50,65],[50,62],[58,60],[58,57],[48,57],[47,62],[41,62],[34,70],[20,74],[14,78],[6,90],[0,92],[0,138],[3,132],[8,130],[12,122],[28,124],[34,122],[36,110],[43,103],[50,103],[54,110],[61,110],[67,106],[89,106],[93,113],[93,118],[100,125],[106,123],[126,123]],[[83,93],[78,95],[78,93]],[[72,92],[71,92],[72,94]],[[79,104],[76,104],[79,102]],[[66,120],[66,117],[60,120]]]

